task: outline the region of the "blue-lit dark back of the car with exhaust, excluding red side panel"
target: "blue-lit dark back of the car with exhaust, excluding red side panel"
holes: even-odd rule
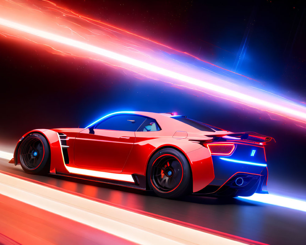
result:
[[[264,147],[258,144],[233,142],[230,155],[211,156],[214,179],[198,193],[251,196],[267,192],[268,169]]]

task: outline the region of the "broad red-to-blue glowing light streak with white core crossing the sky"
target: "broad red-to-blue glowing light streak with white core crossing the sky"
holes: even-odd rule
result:
[[[232,73],[199,58],[125,30],[95,21],[49,1],[1,1],[0,31],[43,44],[52,53],[90,58],[106,65],[208,93],[297,122],[306,123],[306,108],[272,93],[252,88]],[[173,58],[171,55],[181,56]],[[203,67],[183,62],[196,58]],[[245,77],[248,80],[250,78]]]

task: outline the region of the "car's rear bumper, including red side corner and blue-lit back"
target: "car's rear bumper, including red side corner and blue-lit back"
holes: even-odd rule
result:
[[[267,193],[268,170],[263,147],[237,144],[230,156],[211,155],[206,147],[202,147],[187,156],[195,194],[228,195],[227,192],[239,191],[239,195],[247,196],[255,192]],[[237,178],[242,178],[244,184],[233,184]]]

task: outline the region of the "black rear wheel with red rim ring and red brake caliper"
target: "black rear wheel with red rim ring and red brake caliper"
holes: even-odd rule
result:
[[[178,150],[162,149],[148,163],[147,181],[155,194],[162,198],[178,198],[190,194],[189,162]]]

